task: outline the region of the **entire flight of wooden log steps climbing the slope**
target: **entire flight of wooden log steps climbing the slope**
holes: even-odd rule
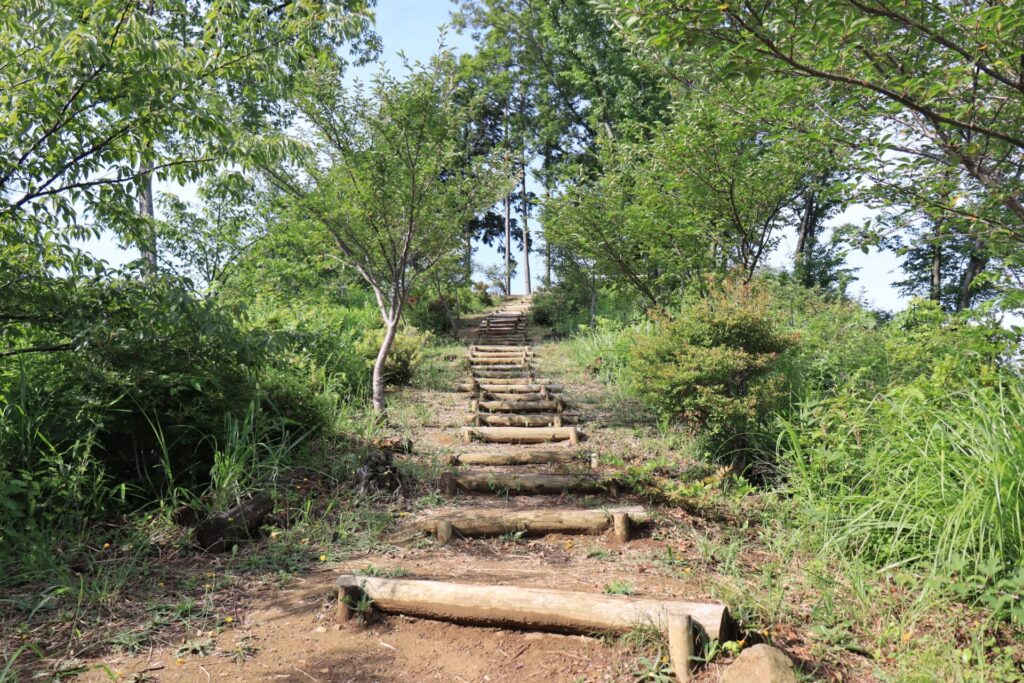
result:
[[[529,296],[509,299],[475,331],[476,341],[464,360],[468,377],[456,387],[468,395],[465,451],[452,457],[453,468],[441,476],[440,488],[451,498],[560,496],[561,502],[586,494],[614,501],[621,483],[602,474],[596,457],[578,447],[582,416],[560,385],[538,373],[527,330],[529,306]],[[648,521],[642,506],[615,504],[465,507],[418,523],[441,544],[506,533],[604,532],[625,544]],[[716,603],[351,574],[342,575],[337,588],[342,620],[351,615],[352,605],[369,599],[385,612],[518,629],[594,633],[654,626],[668,636],[679,681],[689,680],[698,637],[723,638],[731,629],[728,610]]]

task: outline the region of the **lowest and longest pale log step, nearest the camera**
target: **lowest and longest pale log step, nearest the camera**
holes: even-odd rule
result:
[[[368,599],[385,613],[561,633],[625,633],[637,627],[666,632],[670,615],[680,613],[711,639],[726,640],[733,630],[729,610],[717,603],[353,574],[342,574],[335,586],[344,621],[353,605]]]

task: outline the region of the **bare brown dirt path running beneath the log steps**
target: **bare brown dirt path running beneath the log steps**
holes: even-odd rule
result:
[[[481,341],[493,345],[514,342],[542,349],[537,356],[520,364],[522,368],[496,371],[507,372],[507,379],[527,376],[534,382],[548,379],[544,375],[549,371],[558,374],[559,359],[545,355],[552,347],[531,345],[536,340],[522,336],[520,323],[492,327]],[[489,378],[479,375],[494,374],[482,370],[483,367],[472,368],[473,380],[480,385]],[[609,414],[606,405],[595,402],[593,396],[584,392],[579,393],[582,402],[578,402],[573,387],[565,384],[563,392],[555,394],[551,391],[553,387],[548,387],[538,392],[543,395],[532,398],[548,400],[557,395],[565,401],[564,408],[559,404],[542,415],[579,413],[580,429],[587,435],[581,444],[463,442],[466,407],[472,396],[478,400],[493,398],[487,395],[493,390],[479,390],[472,396],[440,391],[416,394],[409,403],[413,422],[417,423],[414,442],[418,452],[427,454],[423,457],[431,458],[435,465],[468,453],[557,451],[572,454],[572,462],[517,466],[515,471],[583,471],[600,475],[603,466],[592,469],[593,444],[607,442],[601,434],[602,425],[613,427],[621,416]],[[628,427],[618,429],[629,432]],[[486,438],[486,431],[477,435]],[[643,438],[636,434],[627,434],[625,445],[623,439],[618,441],[618,446],[626,451],[642,444]],[[498,473],[510,468],[460,466],[454,471],[469,469]],[[481,494],[458,490],[454,496],[438,497],[437,505],[418,512],[403,527],[408,530],[423,517],[456,510],[601,509],[637,503],[613,493],[522,496],[515,489]],[[446,545],[428,538],[406,539],[406,543],[393,546],[388,552],[326,562],[318,571],[291,582],[285,590],[257,592],[239,617],[215,631],[196,635],[189,641],[195,645],[191,650],[169,645],[135,656],[112,655],[103,664],[116,680],[135,681],[637,680],[638,667],[648,666],[640,661],[640,654],[650,656],[650,652],[657,651],[658,644],[653,642],[656,636],[650,633],[639,631],[626,637],[593,638],[457,626],[402,615],[375,616],[369,624],[342,625],[336,618],[333,584],[341,573],[372,571],[406,579],[714,601],[715,587],[708,574],[691,571],[690,567],[696,565],[680,560],[695,554],[694,539],[699,539],[701,522],[683,515],[652,514],[651,523],[637,529],[629,543],[617,541],[611,530],[591,536],[548,533],[539,538],[516,531],[489,538],[463,538],[457,530]],[[664,673],[664,663],[654,669]],[[718,680],[719,669],[717,664],[707,667],[695,680]],[[111,678],[94,671],[85,680]]]

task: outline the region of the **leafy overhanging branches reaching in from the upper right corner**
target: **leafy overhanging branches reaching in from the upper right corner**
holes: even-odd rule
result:
[[[999,263],[1019,278],[1024,242],[1024,15],[1012,3],[760,0],[602,3],[624,35],[756,80],[828,87],[838,136],[873,189],[956,221],[972,243],[962,289]],[[956,193],[945,191],[952,182]],[[957,198],[967,198],[964,203]],[[1001,258],[993,258],[1000,255]]]

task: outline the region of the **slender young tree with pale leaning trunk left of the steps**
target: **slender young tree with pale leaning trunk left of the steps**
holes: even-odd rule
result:
[[[384,336],[373,369],[373,405],[385,410],[384,365],[419,278],[462,249],[469,219],[510,188],[497,153],[470,154],[447,53],[378,75],[351,93],[332,70],[309,75],[299,101],[313,131],[301,168],[268,168],[293,215],[326,230],[337,256],[374,293]]]

